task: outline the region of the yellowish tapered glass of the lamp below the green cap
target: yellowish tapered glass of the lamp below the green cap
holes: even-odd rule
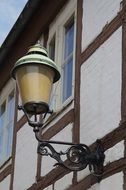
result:
[[[48,104],[53,78],[54,70],[42,64],[27,64],[17,68],[16,80],[22,104],[30,102]]]

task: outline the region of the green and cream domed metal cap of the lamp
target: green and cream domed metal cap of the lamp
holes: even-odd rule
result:
[[[44,47],[42,47],[40,44],[31,46],[30,49],[28,50],[28,53],[25,56],[21,57],[15,63],[12,69],[12,77],[15,79],[15,71],[18,67],[21,67],[23,65],[30,64],[30,63],[42,64],[42,65],[46,65],[47,67],[51,67],[55,72],[53,82],[55,83],[60,79],[60,72],[58,71],[58,68],[55,62],[52,61],[48,57],[47,50]]]

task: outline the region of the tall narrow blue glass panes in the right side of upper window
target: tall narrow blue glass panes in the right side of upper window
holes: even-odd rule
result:
[[[62,66],[62,102],[72,95],[73,78],[73,50],[74,50],[74,22],[65,27],[64,58]]]

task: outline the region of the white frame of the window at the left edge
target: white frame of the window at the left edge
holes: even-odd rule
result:
[[[3,144],[3,148],[2,148],[2,158],[0,159],[0,166],[2,164],[4,164],[4,162],[6,162],[12,155],[12,144],[11,144],[11,152],[9,155],[6,155],[6,145],[7,145],[7,126],[8,126],[8,121],[7,121],[7,109],[8,109],[8,99],[10,94],[14,92],[14,111],[15,111],[15,94],[16,94],[16,86],[15,86],[15,82],[10,79],[8,81],[8,83],[6,84],[6,86],[1,90],[0,92],[0,106],[3,105],[4,102],[6,102],[6,115],[5,115],[5,120],[6,123],[4,124],[4,129],[3,129],[3,134],[4,134],[4,144]],[[15,113],[14,113],[15,115]],[[12,119],[13,122],[13,129],[14,129],[14,117]],[[12,143],[13,143],[13,132],[12,132]]]

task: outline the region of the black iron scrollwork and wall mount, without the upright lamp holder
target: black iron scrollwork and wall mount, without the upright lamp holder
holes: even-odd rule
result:
[[[55,141],[58,144],[57,141]],[[89,166],[89,170],[95,174],[103,172],[104,150],[101,142],[97,140],[96,150],[92,152],[85,144],[73,144],[66,151],[57,152],[51,142],[39,141],[38,153],[42,156],[50,156],[57,161],[54,166],[60,165],[71,171],[80,171]],[[64,144],[63,144],[64,145]],[[67,142],[66,142],[67,145]],[[66,161],[62,156],[66,156]]]

